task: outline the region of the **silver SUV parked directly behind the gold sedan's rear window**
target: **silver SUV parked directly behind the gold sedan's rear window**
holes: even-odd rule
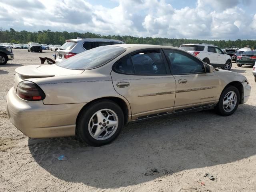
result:
[[[78,53],[104,45],[124,44],[124,42],[114,39],[70,39],[57,50],[56,62],[68,59]]]

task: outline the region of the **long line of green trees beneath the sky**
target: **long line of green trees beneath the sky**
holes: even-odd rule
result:
[[[23,43],[38,42],[40,44],[64,44],[67,39],[76,38],[108,38],[121,40],[127,44],[155,44],[155,45],[168,45],[179,47],[181,44],[188,43],[209,43],[214,44],[220,48],[227,47],[239,47],[250,46],[250,48],[256,49],[256,40],[198,40],[198,39],[175,39],[175,38],[152,38],[152,37],[134,37],[134,36],[120,36],[120,35],[100,35],[91,32],[79,33],[79,32],[53,32],[51,30],[42,30],[37,32],[28,31],[15,31],[13,28],[10,30],[3,30],[0,28],[0,42],[2,43]]]

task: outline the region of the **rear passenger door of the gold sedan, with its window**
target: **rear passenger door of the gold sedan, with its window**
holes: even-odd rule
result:
[[[114,64],[111,77],[116,92],[130,103],[132,120],[173,111],[176,83],[160,49],[123,57]]]

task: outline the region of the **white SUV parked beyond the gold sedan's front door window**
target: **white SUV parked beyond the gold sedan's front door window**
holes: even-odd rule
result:
[[[230,70],[232,67],[231,57],[224,54],[224,52],[215,45],[191,43],[180,45],[180,48],[194,54],[194,56],[200,58],[207,64],[211,64],[213,67],[220,67],[225,70]]]

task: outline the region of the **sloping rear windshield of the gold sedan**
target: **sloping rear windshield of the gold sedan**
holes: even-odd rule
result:
[[[123,47],[100,46],[77,54],[56,65],[68,69],[89,70],[106,64],[124,51],[125,48]]]

